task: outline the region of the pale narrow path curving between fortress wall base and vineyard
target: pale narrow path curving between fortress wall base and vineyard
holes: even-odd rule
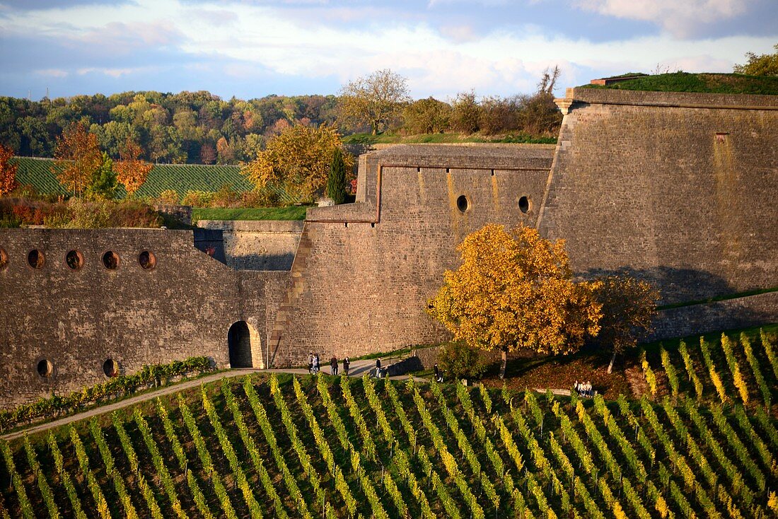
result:
[[[361,378],[364,373],[370,373],[371,371],[373,371],[375,365],[376,365],[375,360],[354,360],[352,361],[351,366],[349,368],[349,377]],[[323,366],[322,371],[325,374],[330,374],[329,364]],[[205,377],[187,380],[186,382],[180,382],[179,384],[173,384],[166,387],[160,387],[159,389],[148,391],[146,393],[143,393],[142,395],[125,398],[120,402],[100,405],[99,407],[96,407],[94,409],[89,409],[88,411],[79,412],[78,414],[75,415],[65,416],[63,418],[56,419],[53,422],[40,423],[38,425],[26,427],[25,429],[22,430],[14,431],[13,433],[3,434],[0,435],[0,439],[7,441],[7,440],[13,440],[14,438],[22,437],[25,434],[40,433],[41,431],[54,429],[54,427],[64,426],[67,425],[68,423],[78,422],[79,420],[92,418],[93,416],[100,416],[107,412],[116,411],[117,409],[123,409],[130,405],[135,405],[140,402],[152,400],[152,398],[157,398],[162,395],[170,395],[170,393],[177,393],[178,391],[183,391],[184,389],[188,389],[190,387],[198,387],[200,384],[208,384],[209,382],[220,380],[225,377],[241,377],[248,373],[295,373],[297,375],[305,375],[308,373],[308,370],[297,369],[297,368],[289,368],[283,370],[258,370],[258,369],[255,370],[255,369],[247,368],[247,369],[219,371],[219,373],[213,373],[212,375],[208,375]],[[408,377],[402,376],[402,377],[391,377],[391,378],[393,380],[406,380]],[[416,380],[425,380],[425,379],[416,378]]]

